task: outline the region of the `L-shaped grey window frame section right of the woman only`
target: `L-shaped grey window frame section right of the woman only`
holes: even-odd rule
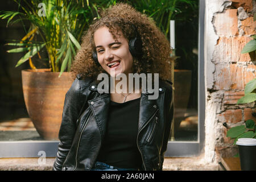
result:
[[[205,140],[205,80],[204,80],[204,19],[205,0],[199,0],[199,40],[198,40],[198,115],[197,141],[169,141],[166,157],[192,157],[199,156],[204,149]],[[174,106],[175,107],[175,106]]]

